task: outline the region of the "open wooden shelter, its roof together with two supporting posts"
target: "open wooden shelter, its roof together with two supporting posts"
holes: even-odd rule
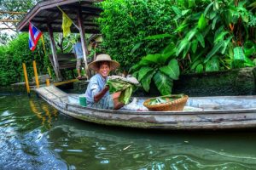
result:
[[[54,70],[58,79],[62,79],[62,77],[57,59],[53,32],[62,32],[62,13],[59,8],[61,8],[76,25],[71,26],[71,31],[80,34],[84,52],[85,70],[87,71],[86,55],[88,55],[88,50],[84,35],[85,33],[99,33],[98,26],[94,20],[102,12],[102,9],[97,8],[94,3],[100,2],[102,2],[102,0],[46,0],[37,3],[26,14],[23,20],[20,20],[20,23],[17,26],[18,31],[28,31],[29,22],[32,22],[40,31],[49,32]]]

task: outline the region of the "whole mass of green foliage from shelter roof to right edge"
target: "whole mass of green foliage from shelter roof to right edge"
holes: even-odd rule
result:
[[[146,91],[151,79],[160,92],[172,88],[164,77],[172,76],[171,59],[182,72],[255,66],[254,0],[106,0],[101,6],[108,54],[131,68]]]

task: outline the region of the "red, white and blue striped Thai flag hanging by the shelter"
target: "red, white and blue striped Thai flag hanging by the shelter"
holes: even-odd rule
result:
[[[30,50],[34,50],[37,46],[38,40],[39,38],[42,36],[42,32],[40,30],[38,30],[37,27],[33,26],[32,23],[29,23],[29,31],[28,31],[28,35],[29,35],[29,48]]]

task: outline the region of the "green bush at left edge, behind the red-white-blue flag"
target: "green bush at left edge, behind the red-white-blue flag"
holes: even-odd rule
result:
[[[38,75],[46,74],[49,59],[44,55],[42,42],[38,42],[35,51],[28,48],[28,34],[22,33],[9,45],[0,46],[0,85],[14,82],[24,82],[22,63],[26,64],[26,71],[30,80],[34,76],[32,60],[37,62]]]

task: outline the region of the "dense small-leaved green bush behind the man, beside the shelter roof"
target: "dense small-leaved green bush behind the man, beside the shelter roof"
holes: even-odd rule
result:
[[[172,32],[170,0],[106,0],[98,22],[104,41],[102,45],[125,70],[144,55],[154,54],[166,46],[165,39],[152,40],[131,54],[132,48],[145,37]]]

